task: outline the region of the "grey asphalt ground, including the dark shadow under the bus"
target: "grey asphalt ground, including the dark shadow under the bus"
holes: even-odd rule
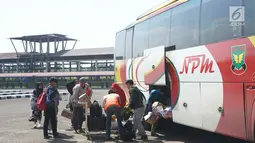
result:
[[[107,90],[95,90],[93,100],[102,102],[103,95]],[[58,115],[58,132],[61,139],[43,139],[42,129],[33,129],[33,123],[28,122],[30,115],[29,99],[10,99],[0,100],[0,143],[76,143],[76,142],[95,142],[101,143],[104,139],[104,133],[96,133],[92,140],[87,140],[82,134],[75,134],[70,130],[70,120],[61,117],[60,113],[67,104],[67,96],[63,97],[60,103],[60,112]],[[246,143],[234,138],[213,134],[210,132],[170,123],[166,125],[167,131],[161,134],[161,137],[155,138],[149,136],[148,141],[144,142],[167,142],[167,143]],[[149,132],[148,132],[148,135]],[[121,142],[121,141],[112,141]],[[142,142],[142,141],[137,141]]]

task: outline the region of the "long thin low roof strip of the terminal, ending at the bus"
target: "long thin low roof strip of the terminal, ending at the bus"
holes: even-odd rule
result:
[[[44,73],[2,73],[2,77],[66,77],[66,76],[112,76],[114,71],[89,72],[44,72]]]

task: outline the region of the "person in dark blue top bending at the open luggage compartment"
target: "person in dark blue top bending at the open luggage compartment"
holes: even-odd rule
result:
[[[160,102],[164,105],[166,105],[166,98],[164,93],[159,89],[153,89],[150,91],[150,96],[147,100],[147,112],[152,111],[152,104],[154,102]],[[158,126],[158,121],[156,121],[154,124],[151,125],[151,136],[158,136],[158,134],[155,132],[156,128]]]

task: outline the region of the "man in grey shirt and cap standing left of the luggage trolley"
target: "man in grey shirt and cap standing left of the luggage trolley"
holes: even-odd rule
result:
[[[80,78],[79,84],[76,84],[73,90],[72,95],[72,106],[73,106],[73,118],[72,118],[72,124],[73,128],[76,133],[84,133],[82,130],[82,123],[84,118],[84,110],[83,106],[78,103],[79,97],[83,94],[86,94],[86,96],[91,99],[91,89],[89,85],[86,83],[86,79],[84,77]]]

